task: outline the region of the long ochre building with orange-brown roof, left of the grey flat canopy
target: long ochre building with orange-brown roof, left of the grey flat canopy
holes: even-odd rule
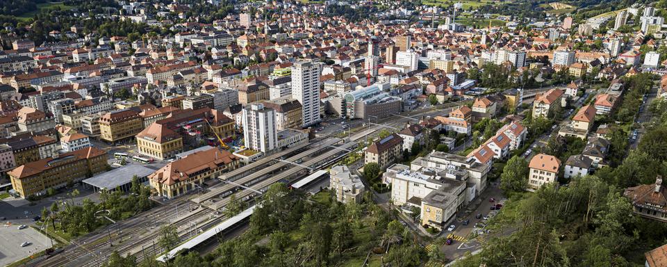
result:
[[[74,152],[60,154],[58,158],[31,161],[7,174],[14,191],[21,197],[44,195],[48,188],[61,188],[92,177],[107,168],[106,152],[87,147]]]

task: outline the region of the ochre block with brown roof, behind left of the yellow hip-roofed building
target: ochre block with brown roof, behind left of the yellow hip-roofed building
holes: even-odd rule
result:
[[[116,143],[135,136],[143,129],[140,111],[139,108],[126,108],[101,115],[99,118],[100,139]]]

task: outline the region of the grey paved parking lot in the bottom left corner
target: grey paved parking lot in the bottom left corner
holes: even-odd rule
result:
[[[19,225],[3,222],[0,225],[0,266],[6,266],[45,250],[51,245],[46,236],[31,227],[18,229]],[[30,242],[25,247],[21,243]]]

